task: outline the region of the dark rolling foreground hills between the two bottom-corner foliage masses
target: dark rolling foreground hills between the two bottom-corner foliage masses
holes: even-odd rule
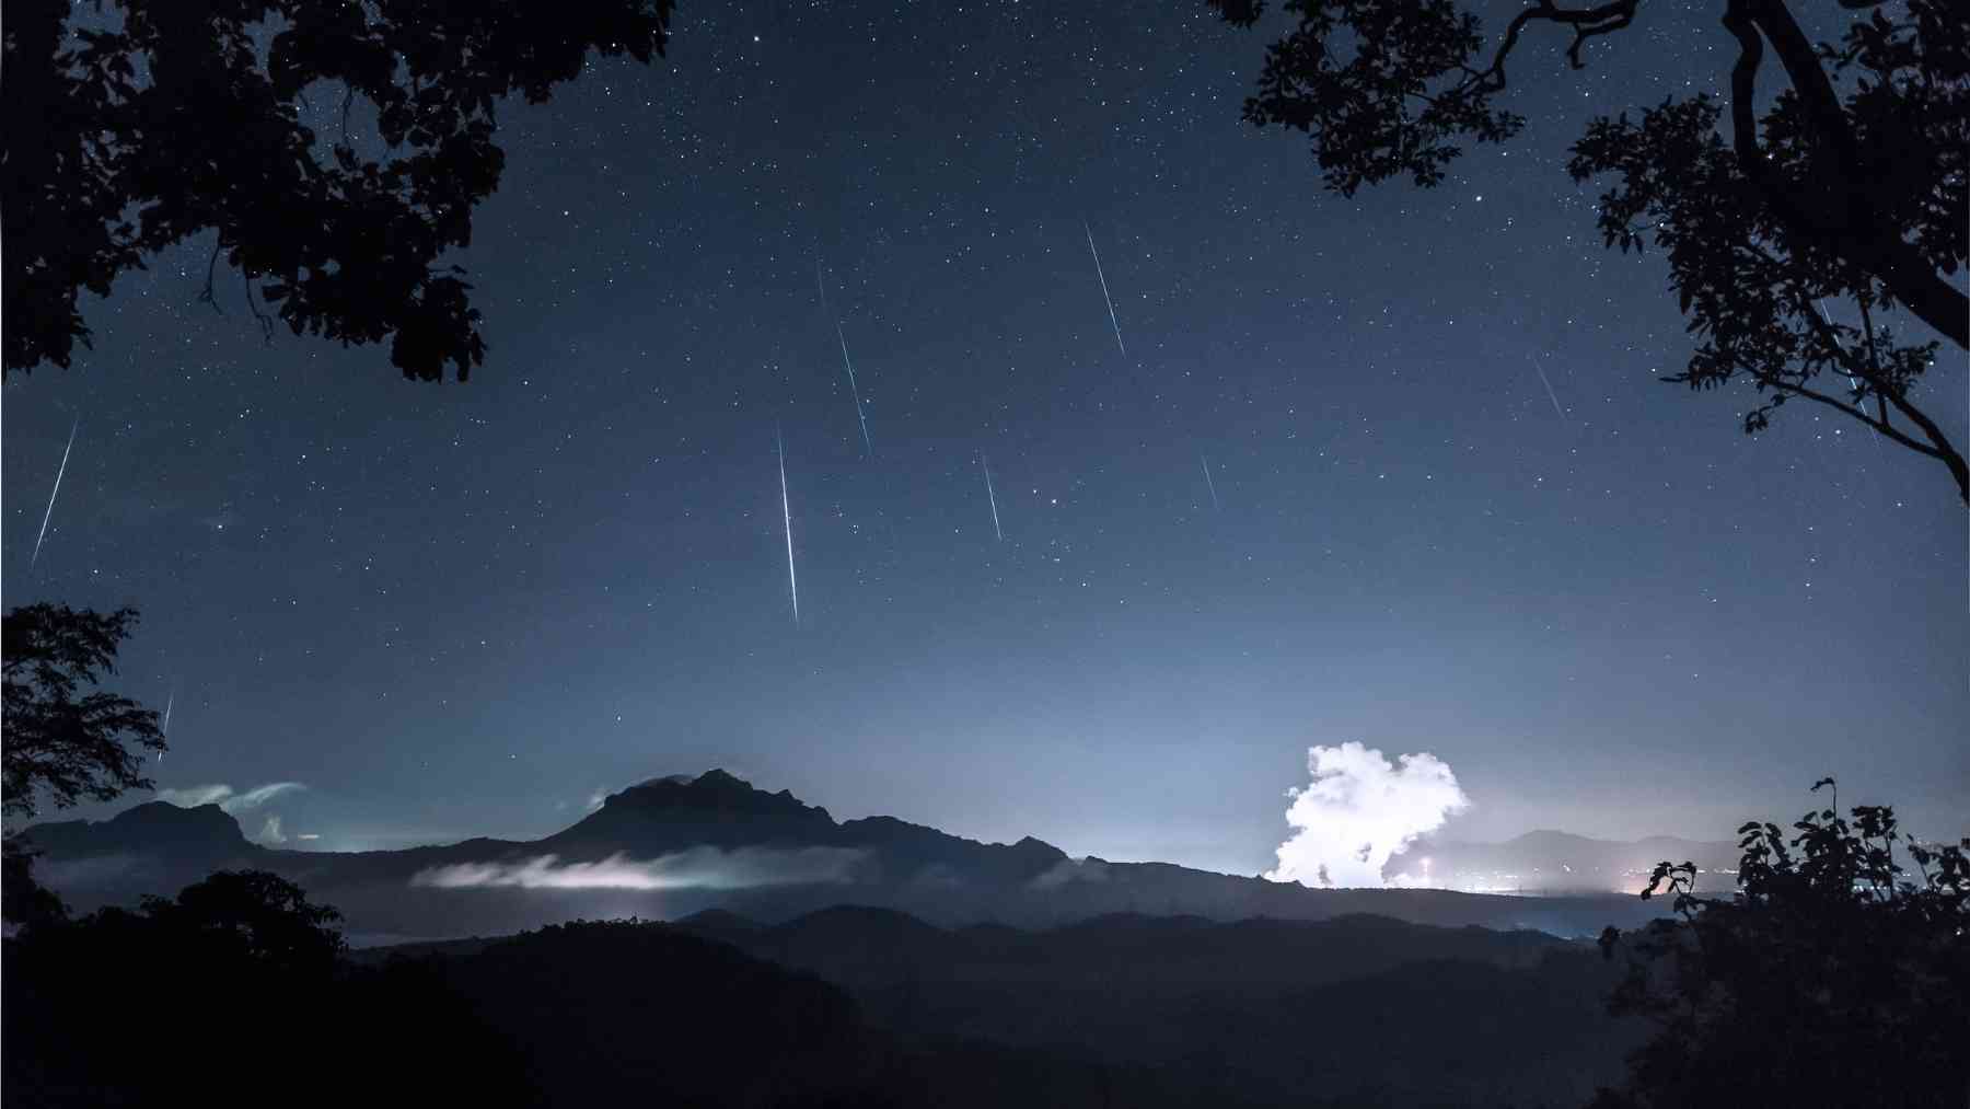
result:
[[[1590,946],[1371,916],[1018,930],[837,906],[404,953],[451,967],[561,1103],[745,1044],[743,1077],[859,1083],[841,1103],[1580,1105],[1637,1032],[1608,1016],[1617,967]]]

